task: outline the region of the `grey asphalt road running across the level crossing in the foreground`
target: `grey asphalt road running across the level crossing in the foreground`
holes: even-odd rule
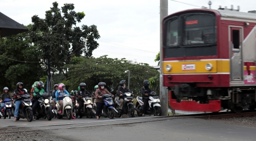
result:
[[[127,119],[127,120],[122,120]],[[130,119],[130,120],[129,120]],[[154,121],[152,121],[154,120]],[[133,123],[148,121],[143,123]],[[130,122],[130,123],[128,123]],[[76,124],[79,123],[79,124]],[[128,124],[118,124],[128,123]],[[50,124],[69,124],[61,126],[40,126]],[[111,124],[111,125],[102,125]],[[94,126],[97,125],[97,126]],[[1,127],[33,126],[24,130],[44,129],[47,136],[61,138],[64,141],[255,141],[256,128],[243,127],[230,124],[221,124],[195,118],[116,118],[108,119],[53,119],[47,121],[27,122],[20,119],[12,122],[12,119],[0,119]],[[83,126],[79,128],[73,128]],[[87,127],[85,127],[87,126]],[[88,127],[89,126],[89,127]],[[72,127],[65,128],[64,127]],[[54,130],[45,130],[59,128]],[[23,130],[23,129],[21,129]],[[1,132],[2,130],[0,130]],[[39,140],[37,140],[39,141]],[[42,140],[43,141],[43,140]],[[47,141],[47,139],[45,140]]]

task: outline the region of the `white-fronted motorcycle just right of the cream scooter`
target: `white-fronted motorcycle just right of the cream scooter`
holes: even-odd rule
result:
[[[91,96],[88,96],[88,94],[85,94],[85,97],[82,97],[82,100],[84,101],[83,107],[81,108],[80,111],[80,118],[82,116],[88,116],[88,118],[92,118],[93,116],[93,111],[92,111],[92,104],[91,104]],[[75,115],[78,115],[78,108],[79,108],[79,103],[76,103],[75,105]]]

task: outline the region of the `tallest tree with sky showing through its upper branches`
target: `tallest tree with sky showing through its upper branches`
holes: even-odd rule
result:
[[[58,8],[58,3],[53,2],[53,7],[46,11],[45,19],[37,15],[32,17],[33,42],[40,48],[40,57],[46,65],[54,68],[52,71],[59,71],[67,78],[67,68],[64,65],[70,64],[71,58],[91,57],[99,43],[100,35],[96,25],[75,26],[81,22],[85,14],[75,12],[74,4],[64,4]]]

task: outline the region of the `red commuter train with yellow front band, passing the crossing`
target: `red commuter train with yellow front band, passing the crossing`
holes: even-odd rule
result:
[[[256,108],[256,11],[189,9],[165,17],[162,29],[173,109]]]

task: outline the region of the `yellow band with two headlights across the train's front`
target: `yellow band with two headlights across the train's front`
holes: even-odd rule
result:
[[[206,65],[212,66],[207,70]],[[171,67],[170,71],[166,66]],[[229,60],[200,60],[200,61],[165,61],[163,62],[164,74],[190,74],[190,73],[229,73]]]

